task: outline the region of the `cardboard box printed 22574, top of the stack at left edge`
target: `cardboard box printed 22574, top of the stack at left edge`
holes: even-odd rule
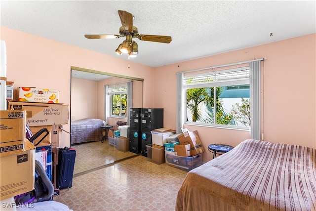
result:
[[[0,156],[24,151],[26,111],[0,111]]]

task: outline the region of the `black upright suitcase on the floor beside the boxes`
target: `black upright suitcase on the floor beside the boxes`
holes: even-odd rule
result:
[[[75,167],[76,150],[64,147],[58,152],[57,185],[58,189],[71,188],[73,186],[73,174]]]

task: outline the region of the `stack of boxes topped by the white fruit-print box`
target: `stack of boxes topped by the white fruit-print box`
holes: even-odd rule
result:
[[[43,128],[48,131],[46,137],[40,135],[33,144],[36,146],[36,160],[40,161],[48,178],[53,181],[56,176],[53,176],[52,151],[59,147],[62,127],[68,124],[69,105],[59,104],[58,90],[53,89],[18,87],[13,97],[15,101],[8,101],[8,110],[25,110],[26,125],[33,135]],[[54,164],[57,164],[56,158]]]

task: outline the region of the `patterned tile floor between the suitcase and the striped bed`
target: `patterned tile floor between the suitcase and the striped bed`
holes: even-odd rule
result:
[[[174,211],[187,172],[144,156],[79,174],[54,201],[74,211]]]

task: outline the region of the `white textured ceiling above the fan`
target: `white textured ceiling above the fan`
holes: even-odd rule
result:
[[[316,33],[316,1],[0,1],[2,26],[111,56],[124,39],[118,10],[135,16],[140,34],[171,36],[169,44],[135,39],[130,61],[158,67]],[[272,33],[272,36],[271,36]]]

